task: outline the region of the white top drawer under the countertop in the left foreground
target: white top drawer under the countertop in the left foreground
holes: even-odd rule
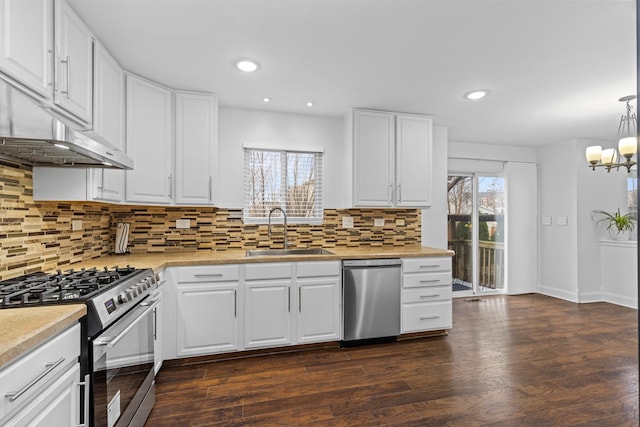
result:
[[[78,363],[78,357],[79,323],[0,370],[0,419],[25,402],[32,401],[69,366]],[[34,383],[29,387],[32,381]],[[16,392],[23,393],[11,401],[7,394]]]

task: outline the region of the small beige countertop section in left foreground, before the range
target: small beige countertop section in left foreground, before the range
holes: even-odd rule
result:
[[[86,314],[84,304],[0,310],[0,367],[73,326]]]

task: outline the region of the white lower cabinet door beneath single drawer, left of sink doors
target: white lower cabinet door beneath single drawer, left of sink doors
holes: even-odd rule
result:
[[[178,285],[177,355],[238,348],[238,287]]]

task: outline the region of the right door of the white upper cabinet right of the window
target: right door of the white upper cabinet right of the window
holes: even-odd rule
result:
[[[432,119],[396,116],[396,206],[431,206]]]

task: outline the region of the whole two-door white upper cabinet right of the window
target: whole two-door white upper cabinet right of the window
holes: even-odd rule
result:
[[[432,120],[353,111],[354,206],[431,206]]]

